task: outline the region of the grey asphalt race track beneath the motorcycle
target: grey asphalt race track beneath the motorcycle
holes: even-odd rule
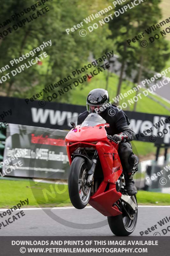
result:
[[[153,231],[150,229],[151,232],[148,231],[147,236],[164,236],[161,230],[170,226],[169,207],[139,206],[138,222],[132,236],[140,236],[139,232],[154,225],[157,225],[157,229]],[[58,207],[52,211],[49,208],[22,210],[25,216],[6,227],[2,226],[0,229],[1,236],[113,236],[107,224],[107,218],[90,206],[83,210],[77,210],[73,207]],[[4,209],[0,210],[0,212],[2,211]],[[164,225],[161,227],[157,222],[163,218],[166,218],[166,222],[164,221]],[[3,218],[1,218],[2,221]],[[170,231],[167,231],[166,236],[170,236]]]

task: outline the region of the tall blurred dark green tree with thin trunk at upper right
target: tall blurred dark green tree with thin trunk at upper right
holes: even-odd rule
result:
[[[130,2],[130,0],[126,1],[126,4],[130,4]],[[159,71],[163,68],[163,60],[169,57],[167,54],[167,43],[164,38],[161,40],[161,48],[159,48],[159,41],[154,43],[154,47],[152,47],[150,44],[147,48],[141,47],[140,40],[136,43],[131,42],[130,45],[127,43],[129,38],[139,35],[144,31],[144,29],[150,27],[154,23],[158,23],[158,20],[161,18],[159,3],[160,0],[143,2],[133,9],[127,10],[127,12],[120,14],[117,18],[109,22],[109,28],[112,31],[112,35],[110,37],[115,43],[116,50],[120,56],[119,61],[121,62],[121,72],[117,87],[117,95],[121,91],[123,76],[126,74],[126,76],[130,77],[132,75],[132,71],[138,71],[138,66],[136,64],[141,64],[142,61],[145,69],[152,68],[152,70]],[[115,7],[115,11],[118,11],[124,5],[124,3],[117,5]],[[148,15],[150,19],[148,19]],[[157,61],[153,61],[155,60],[155,47],[157,49]],[[162,54],[163,51],[161,49],[166,49],[166,52]],[[143,70],[140,69],[137,79],[138,82],[142,77],[142,72]]]

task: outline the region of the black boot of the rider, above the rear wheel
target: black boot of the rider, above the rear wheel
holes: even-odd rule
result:
[[[133,180],[133,174],[134,171],[126,171],[124,173],[126,189],[129,196],[134,196],[137,194],[137,188],[135,186],[135,181]]]

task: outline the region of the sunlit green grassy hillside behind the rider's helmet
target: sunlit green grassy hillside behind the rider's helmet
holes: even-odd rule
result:
[[[117,84],[118,84],[118,76],[115,74],[111,74],[111,77],[109,78],[109,84],[107,91],[110,96],[110,100],[112,101],[113,104],[115,104],[114,98],[116,96],[116,91],[117,91]],[[122,93],[125,93],[135,87],[135,84],[129,82],[129,81],[123,81],[122,83]],[[70,102],[71,104],[76,104],[76,105],[85,105],[86,104],[86,96],[89,93],[90,90],[95,89],[95,88],[104,88],[106,89],[106,81],[105,81],[105,76],[103,73],[100,73],[98,76],[94,76],[90,82],[84,83],[83,85],[78,85],[74,89],[74,93],[72,92],[72,95],[70,95]],[[138,91],[137,93],[140,93],[142,91]],[[166,107],[169,107],[170,109],[170,104],[166,102],[165,100],[162,100],[159,96],[155,96],[153,94],[150,94],[154,99],[159,100],[162,104],[164,104]],[[128,104],[128,100],[136,96],[136,92],[130,94],[128,97],[124,98],[123,100],[120,100],[117,105],[122,105],[123,102],[126,102]],[[164,114],[164,115],[169,115],[169,111],[166,110],[163,106],[161,106],[159,103],[155,102],[154,100],[145,97],[143,94],[141,94],[142,99],[139,98],[137,101],[137,112],[145,112],[145,113],[151,113],[151,114]],[[61,99],[62,100],[62,99]],[[66,102],[65,102],[66,103]],[[128,104],[128,107],[122,108],[123,110],[133,110],[134,105]]]

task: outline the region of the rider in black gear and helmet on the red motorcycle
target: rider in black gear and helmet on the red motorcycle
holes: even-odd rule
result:
[[[78,124],[82,124],[89,113],[97,113],[110,125],[107,134],[119,144],[119,157],[123,167],[125,184],[129,196],[137,194],[133,175],[137,171],[138,158],[132,152],[130,141],[135,139],[135,133],[129,128],[129,120],[125,113],[109,103],[108,92],[104,89],[94,89],[87,96],[87,110],[78,116]]]

